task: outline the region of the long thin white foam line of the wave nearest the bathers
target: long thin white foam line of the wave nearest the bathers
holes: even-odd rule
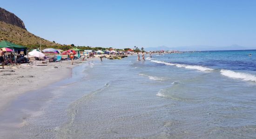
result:
[[[176,66],[176,67],[179,67],[179,68],[197,69],[197,70],[200,70],[200,71],[211,71],[211,70],[214,70],[214,69],[203,67],[203,66],[178,64],[178,63],[168,63],[168,62],[158,61],[158,60],[151,60],[151,61],[155,62],[155,63],[162,63],[162,64],[170,65],[170,66]]]

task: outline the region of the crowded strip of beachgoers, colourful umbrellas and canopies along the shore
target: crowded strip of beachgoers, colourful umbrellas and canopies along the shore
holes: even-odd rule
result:
[[[171,51],[174,52],[174,51]],[[70,49],[68,51],[56,50],[53,48],[47,48],[42,51],[39,49],[31,50],[27,52],[27,49],[15,50],[15,48],[0,48],[0,64],[2,65],[2,69],[4,69],[5,65],[20,65],[25,63],[29,66],[36,65],[37,63],[46,64],[48,62],[60,62],[64,60],[71,60],[71,64],[76,59],[84,61],[87,58],[94,58],[98,57],[102,61],[103,58],[108,59],[121,59],[123,57],[127,57],[128,55],[137,55],[138,60],[145,61],[145,54],[149,54],[151,57],[152,54],[161,54],[164,51],[139,51],[135,52],[134,50],[129,51],[115,51],[115,49],[111,50],[85,50],[81,51],[79,49]],[[140,59],[141,55],[141,59]],[[41,61],[41,62],[38,62]]]

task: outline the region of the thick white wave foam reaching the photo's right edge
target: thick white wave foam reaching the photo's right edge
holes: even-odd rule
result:
[[[221,74],[230,78],[242,79],[244,81],[256,82],[256,76],[249,73],[235,72],[232,70],[222,69]]]

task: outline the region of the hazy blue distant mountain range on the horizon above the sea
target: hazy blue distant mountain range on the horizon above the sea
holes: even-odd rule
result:
[[[192,45],[192,46],[180,46],[180,47],[167,47],[167,46],[159,46],[159,47],[149,47],[145,48],[145,51],[223,51],[223,50],[249,50],[256,49],[256,47],[243,47],[240,45],[230,45],[225,47],[216,47],[216,46],[207,46],[207,45]]]

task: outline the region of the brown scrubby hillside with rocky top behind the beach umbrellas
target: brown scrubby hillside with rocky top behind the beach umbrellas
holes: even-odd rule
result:
[[[40,37],[28,32],[20,18],[15,14],[0,8],[0,41],[2,40],[22,45],[40,44]],[[43,38],[41,38],[41,44],[47,46],[61,45]]]

